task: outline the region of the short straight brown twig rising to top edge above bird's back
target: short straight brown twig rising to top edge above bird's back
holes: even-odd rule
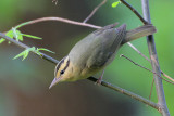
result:
[[[101,8],[105,2],[107,2],[107,0],[103,0],[100,4],[98,4],[98,5],[92,10],[92,12],[83,21],[83,23],[88,22],[89,18],[91,18],[91,16],[94,16],[94,14],[97,12],[97,10],[98,10],[99,8]]]

